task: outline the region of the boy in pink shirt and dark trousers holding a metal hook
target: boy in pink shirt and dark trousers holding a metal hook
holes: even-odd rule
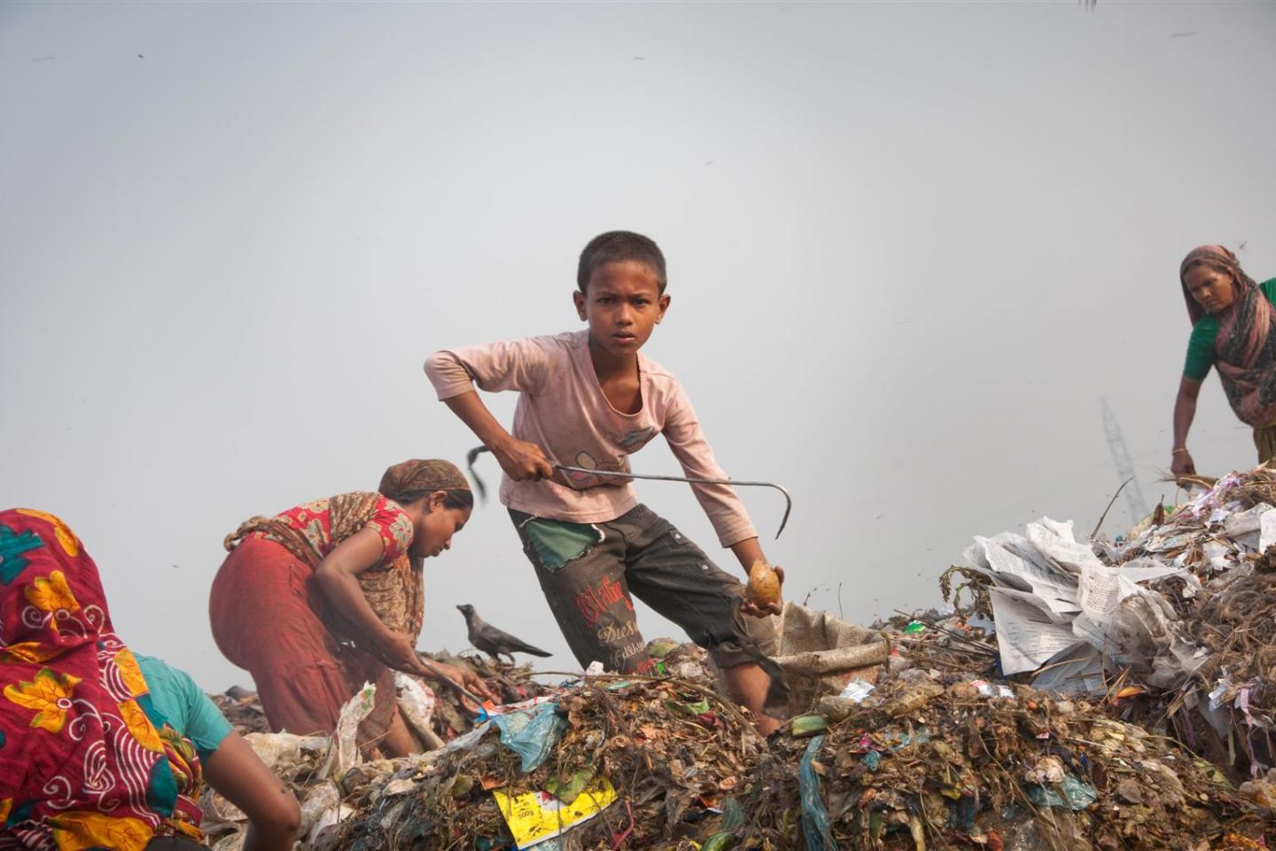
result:
[[[670,523],[638,503],[632,480],[554,467],[629,471],[629,455],[664,434],[686,476],[725,478],[678,379],[639,350],[669,310],[665,256],[648,237],[602,233],[584,248],[572,293],[583,332],[435,352],[425,371],[439,398],[500,462],[500,500],[572,652],[624,674],[649,671],[629,593],[686,630],[722,669],[731,697],[762,735],[771,684],[762,651],[736,615],[778,614],[743,601]],[[513,434],[471,384],[518,390]],[[748,573],[766,556],[744,504],[727,485],[692,485],[723,546]],[[782,575],[782,574],[781,574]]]

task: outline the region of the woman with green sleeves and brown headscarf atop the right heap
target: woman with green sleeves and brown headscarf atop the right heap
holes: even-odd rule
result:
[[[1254,430],[1258,461],[1276,457],[1276,278],[1261,285],[1221,245],[1193,249],[1179,265],[1179,282],[1192,319],[1188,357],[1174,402],[1175,476],[1196,473],[1188,430],[1210,367],[1231,410]]]

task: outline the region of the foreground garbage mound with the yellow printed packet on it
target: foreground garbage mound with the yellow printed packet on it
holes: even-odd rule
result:
[[[694,679],[584,676],[404,762],[352,800],[360,814],[334,842],[526,847],[569,831],[574,847],[690,851],[766,745],[711,688],[703,652],[678,652]]]

